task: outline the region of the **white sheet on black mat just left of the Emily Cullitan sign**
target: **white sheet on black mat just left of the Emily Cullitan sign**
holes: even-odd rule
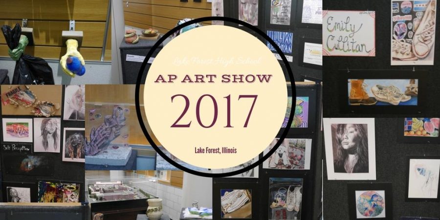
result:
[[[301,38],[298,52],[298,65],[315,69],[322,69],[321,43],[321,39]]]

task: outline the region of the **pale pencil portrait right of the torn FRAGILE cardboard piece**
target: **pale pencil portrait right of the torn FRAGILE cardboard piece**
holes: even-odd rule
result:
[[[64,94],[64,120],[84,121],[86,106],[85,85],[66,85]]]

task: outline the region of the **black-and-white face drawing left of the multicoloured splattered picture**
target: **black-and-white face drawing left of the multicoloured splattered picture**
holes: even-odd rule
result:
[[[3,202],[35,202],[35,183],[3,182]]]

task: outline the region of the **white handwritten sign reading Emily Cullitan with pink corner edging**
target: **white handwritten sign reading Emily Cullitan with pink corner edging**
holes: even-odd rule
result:
[[[369,56],[375,52],[374,11],[324,11],[323,56]]]

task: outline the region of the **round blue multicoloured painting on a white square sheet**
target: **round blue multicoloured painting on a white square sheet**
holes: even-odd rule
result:
[[[355,191],[358,219],[385,218],[385,191]]]

